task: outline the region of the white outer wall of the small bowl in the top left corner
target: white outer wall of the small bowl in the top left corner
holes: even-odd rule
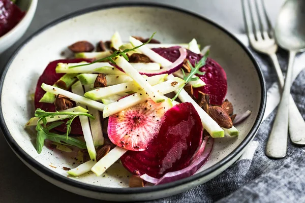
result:
[[[22,20],[8,31],[4,36],[0,37],[0,54],[10,48],[15,42],[17,42],[24,34],[29,24],[31,24],[38,0],[19,0],[17,1],[18,7],[25,11],[25,15]]]

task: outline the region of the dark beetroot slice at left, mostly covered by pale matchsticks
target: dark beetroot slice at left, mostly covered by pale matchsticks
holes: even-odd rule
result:
[[[60,60],[54,60],[47,65],[46,69],[44,70],[44,72],[42,73],[40,78],[38,79],[37,86],[36,86],[36,91],[35,91],[35,108],[36,109],[40,108],[40,109],[42,109],[44,111],[47,111],[47,112],[55,112],[54,104],[41,103],[41,102],[39,102],[39,100],[46,93],[46,91],[44,91],[41,88],[42,83],[45,83],[45,84],[48,84],[48,85],[53,85],[57,80],[59,80],[63,75],[65,75],[65,74],[57,74],[55,72],[55,68],[56,68],[57,63],[78,63],[78,62],[81,62],[81,61],[91,62],[92,60],[83,59],[83,58],[60,59]],[[64,121],[66,122],[67,120],[64,120]],[[54,129],[56,129],[60,132],[66,132],[67,131],[65,123],[62,124],[62,125],[59,125],[58,127],[54,128]],[[75,135],[82,135],[83,134],[78,117],[75,118],[72,122],[71,134],[75,134]]]

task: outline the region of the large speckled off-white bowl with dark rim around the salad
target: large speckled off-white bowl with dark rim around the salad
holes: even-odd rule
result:
[[[251,110],[252,115],[236,126],[239,137],[215,139],[208,162],[192,177],[168,184],[128,188],[125,168],[117,163],[104,176],[86,174],[67,177],[62,169],[76,167],[70,155],[44,147],[35,150],[36,135],[24,130],[33,116],[33,102],[38,77],[49,61],[61,58],[68,45],[88,40],[108,40],[118,30],[124,41],[130,35],[148,37],[157,31],[156,39],[164,43],[186,43],[196,38],[201,45],[212,45],[210,57],[227,73],[228,94],[236,113]],[[17,156],[35,173],[60,188],[93,198],[131,201],[156,199],[203,184],[229,167],[246,149],[257,132],[264,113],[266,91],[262,73],[251,53],[219,25],[187,11],[151,4],[109,5],[89,8],[56,20],[31,36],[12,56],[0,83],[1,127]],[[56,168],[51,167],[56,166]]]

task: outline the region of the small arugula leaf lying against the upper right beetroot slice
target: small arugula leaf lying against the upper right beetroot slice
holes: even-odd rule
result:
[[[186,86],[186,84],[190,81],[196,81],[196,80],[199,80],[199,77],[196,77],[196,78],[192,78],[195,74],[197,75],[204,75],[205,72],[201,72],[199,71],[199,68],[202,67],[203,65],[205,65],[205,61],[207,59],[207,56],[209,54],[209,51],[207,51],[204,56],[199,60],[198,63],[195,63],[195,67],[193,67],[193,65],[191,64],[191,62],[188,60],[188,64],[190,65],[191,67],[191,73],[186,77],[184,71],[182,70],[182,73],[184,74],[184,80],[186,81],[186,83],[184,84],[184,86],[182,86],[178,92],[176,93],[176,95],[171,99],[172,101],[175,100],[178,95],[180,94],[181,90]]]

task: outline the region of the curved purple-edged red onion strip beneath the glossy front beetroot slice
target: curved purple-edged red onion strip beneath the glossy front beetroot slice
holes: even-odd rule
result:
[[[205,137],[199,150],[201,152],[200,156],[198,156],[197,159],[194,159],[188,167],[179,171],[169,172],[160,179],[151,177],[147,174],[142,175],[141,178],[149,183],[159,185],[190,177],[195,174],[199,168],[208,160],[213,148],[213,142],[214,140],[212,138],[208,139],[208,137]]]

